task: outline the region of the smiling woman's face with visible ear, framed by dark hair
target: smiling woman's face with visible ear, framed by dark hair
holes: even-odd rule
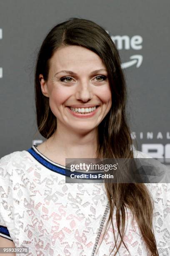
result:
[[[63,125],[78,133],[95,129],[112,105],[107,70],[102,59],[81,46],[63,46],[50,59],[48,80],[40,74],[43,95]]]

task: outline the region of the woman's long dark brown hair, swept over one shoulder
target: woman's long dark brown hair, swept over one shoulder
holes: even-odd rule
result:
[[[127,93],[125,78],[120,65],[120,56],[105,29],[90,20],[71,18],[60,23],[50,30],[42,43],[35,69],[35,102],[37,127],[40,134],[45,138],[50,138],[57,128],[57,121],[50,110],[49,98],[41,92],[39,74],[43,74],[45,81],[47,81],[50,58],[60,46],[67,45],[83,46],[90,49],[100,56],[107,68],[112,92],[112,107],[98,126],[98,156],[102,158],[132,159],[133,143],[126,120]],[[115,238],[115,247],[117,248],[115,255],[121,243],[128,250],[123,241],[125,236],[125,210],[128,206],[133,218],[138,223],[151,255],[158,256],[153,233],[153,201],[145,184],[105,183],[105,189],[110,202],[107,225],[109,222],[112,223],[115,238],[112,216],[114,209],[116,209],[117,230],[121,238],[118,245],[117,238]]]

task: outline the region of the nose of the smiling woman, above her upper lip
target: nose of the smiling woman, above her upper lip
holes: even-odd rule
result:
[[[88,82],[83,82],[77,85],[75,97],[77,100],[87,102],[92,99],[92,88]]]

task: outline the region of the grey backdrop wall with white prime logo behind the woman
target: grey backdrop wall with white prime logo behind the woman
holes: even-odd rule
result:
[[[105,28],[120,52],[135,147],[170,164],[169,10],[168,0],[1,1],[0,157],[45,140],[35,116],[37,52],[53,26],[76,17]]]

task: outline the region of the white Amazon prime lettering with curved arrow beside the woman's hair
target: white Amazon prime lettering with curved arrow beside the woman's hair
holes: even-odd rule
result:
[[[109,32],[106,31],[108,34]],[[117,46],[118,50],[141,50],[142,49],[142,42],[143,38],[142,36],[132,36],[131,38],[129,36],[110,36],[112,38],[112,41]],[[143,56],[140,54],[135,54],[130,56],[130,60],[122,63],[121,67],[122,69],[126,69],[128,67],[131,67],[133,65],[136,65],[137,68],[141,66],[143,62]]]

